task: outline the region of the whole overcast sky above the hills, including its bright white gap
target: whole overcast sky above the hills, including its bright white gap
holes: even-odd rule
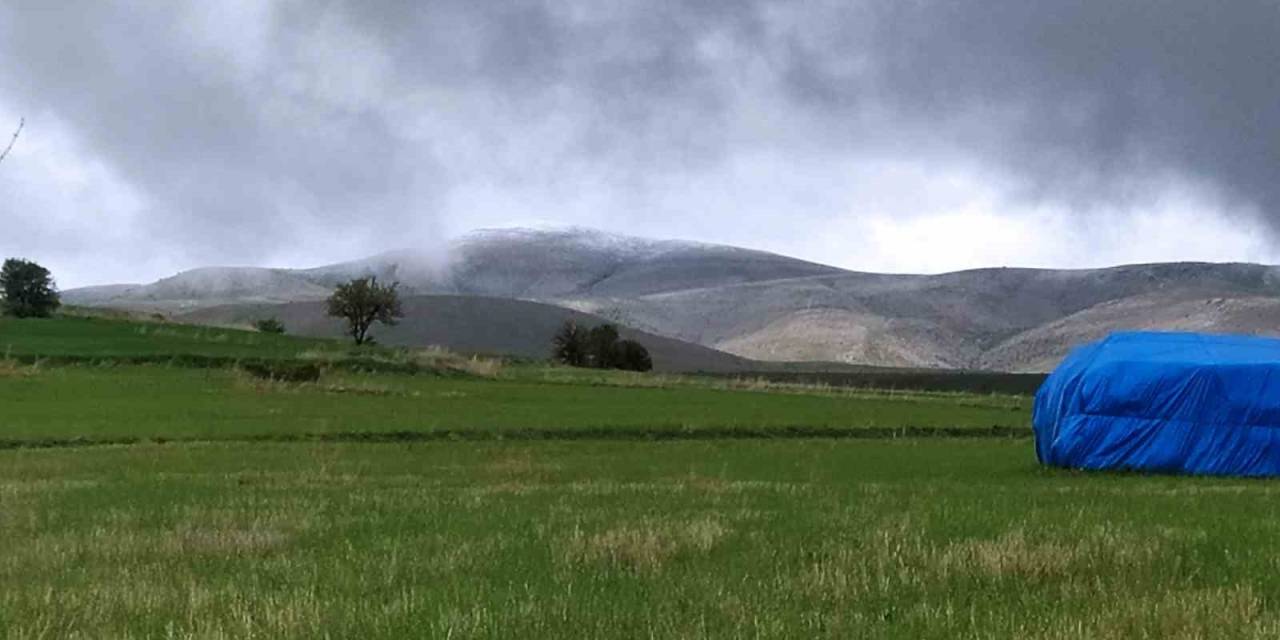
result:
[[[589,227],[1275,264],[1277,36],[1276,0],[0,0],[0,256],[67,288]]]

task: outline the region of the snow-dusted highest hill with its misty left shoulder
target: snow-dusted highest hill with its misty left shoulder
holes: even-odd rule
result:
[[[845,273],[762,251],[649,241],[591,230],[476,232],[442,255],[392,251],[315,269],[201,268],[151,284],[69,289],[67,302],[180,312],[230,302],[321,300],[334,284],[376,275],[410,294],[517,300],[635,297],[699,287]]]

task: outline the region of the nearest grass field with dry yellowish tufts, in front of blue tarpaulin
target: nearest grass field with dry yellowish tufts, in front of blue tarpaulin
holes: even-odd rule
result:
[[[6,637],[1275,637],[1277,488],[1018,440],[0,452]]]

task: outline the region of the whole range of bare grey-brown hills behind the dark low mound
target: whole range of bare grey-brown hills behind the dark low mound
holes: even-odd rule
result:
[[[1280,271],[1266,265],[888,275],[591,230],[486,230],[439,255],[394,251],[303,270],[197,269],[146,285],[73,289],[65,300],[188,314],[230,303],[319,301],[335,283],[358,275],[398,280],[410,294],[568,307],[767,361],[1037,371],[1080,340],[1115,329],[1280,333],[1270,302],[1280,300]],[[500,312],[515,325],[531,321],[521,314],[534,308],[540,307]],[[508,342],[499,338],[475,344],[502,351]]]

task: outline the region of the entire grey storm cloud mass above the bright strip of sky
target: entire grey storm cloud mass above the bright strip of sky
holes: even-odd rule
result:
[[[703,196],[762,152],[963,163],[1080,211],[1192,180],[1280,227],[1277,36],[1261,0],[4,0],[0,108],[65,123],[141,195],[138,243],[192,262],[421,242],[470,186],[603,193],[634,230],[671,177]],[[677,214],[750,209],[723,191]]]

